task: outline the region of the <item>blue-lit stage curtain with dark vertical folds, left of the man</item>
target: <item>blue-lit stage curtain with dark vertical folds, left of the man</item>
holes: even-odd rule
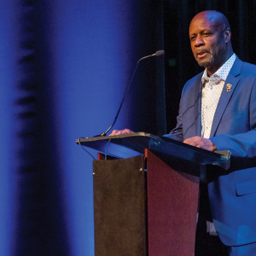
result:
[[[137,61],[163,49],[161,1],[0,4],[1,255],[93,255],[92,157]],[[114,129],[166,132],[164,59],[137,68]],[[96,157],[96,152],[90,153]]]

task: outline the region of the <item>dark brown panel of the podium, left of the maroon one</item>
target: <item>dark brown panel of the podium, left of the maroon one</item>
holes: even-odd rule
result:
[[[144,157],[94,160],[96,256],[146,256]]]

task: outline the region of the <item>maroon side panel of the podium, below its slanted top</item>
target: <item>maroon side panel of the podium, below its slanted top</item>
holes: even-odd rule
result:
[[[145,157],[148,255],[192,256],[195,252],[199,177],[177,172],[172,169],[172,163],[167,165],[148,149],[145,149]],[[183,166],[183,160],[180,161]]]

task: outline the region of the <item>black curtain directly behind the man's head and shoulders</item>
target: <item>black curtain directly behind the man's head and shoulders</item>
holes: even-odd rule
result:
[[[183,85],[200,73],[189,45],[189,23],[207,9],[223,13],[230,21],[233,49],[242,61],[256,64],[254,46],[256,2],[253,0],[164,0],[164,38],[166,49],[166,124],[176,125],[178,103]]]

